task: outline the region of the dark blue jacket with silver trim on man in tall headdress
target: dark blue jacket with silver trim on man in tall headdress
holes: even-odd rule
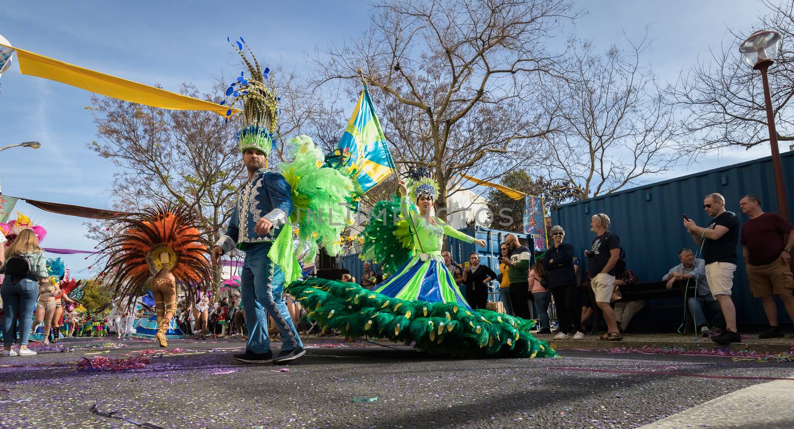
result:
[[[215,245],[222,247],[224,252],[229,252],[234,247],[245,250],[245,246],[250,243],[274,241],[292,213],[291,195],[290,184],[281,174],[264,168],[256,171],[251,181],[241,188],[229,227]],[[260,236],[253,230],[262,217],[273,223],[273,228],[266,236]]]

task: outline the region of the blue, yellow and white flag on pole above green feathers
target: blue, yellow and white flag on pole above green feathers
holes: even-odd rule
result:
[[[345,133],[339,139],[335,155],[338,168],[353,178],[359,195],[383,182],[396,170],[366,85]]]

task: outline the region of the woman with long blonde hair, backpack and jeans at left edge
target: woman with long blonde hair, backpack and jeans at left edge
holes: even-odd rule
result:
[[[36,234],[31,229],[23,229],[17,239],[13,241],[6,251],[6,261],[0,267],[0,274],[6,278],[0,287],[0,296],[6,308],[3,319],[3,346],[2,356],[28,356],[36,354],[28,350],[30,325],[32,324],[33,308],[36,306],[36,296],[40,285],[48,285],[54,291],[47,273],[47,259],[44,259],[44,250],[39,247]],[[49,289],[48,289],[49,290]],[[52,295],[52,310],[55,311],[55,295]],[[11,343],[16,339],[14,325],[19,319],[19,351],[11,350]]]

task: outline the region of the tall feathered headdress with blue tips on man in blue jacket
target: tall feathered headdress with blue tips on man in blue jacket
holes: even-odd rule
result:
[[[229,38],[227,37],[226,40]],[[240,132],[237,132],[240,150],[245,152],[246,149],[256,149],[264,155],[270,155],[274,146],[273,138],[279,113],[276,84],[268,77],[270,69],[268,67],[264,67],[264,71],[261,69],[256,56],[242,37],[239,41],[234,40],[232,47],[248,67],[249,77],[246,79],[245,71],[241,71],[237,80],[226,88],[226,97],[232,97],[232,100],[230,102],[224,100],[221,104],[232,107],[237,102],[242,103],[242,124]],[[226,117],[231,115],[232,109],[229,109]]]

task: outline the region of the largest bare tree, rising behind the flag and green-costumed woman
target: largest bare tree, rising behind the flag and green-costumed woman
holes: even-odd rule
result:
[[[545,49],[564,0],[385,0],[373,6],[364,36],[314,55],[318,85],[346,79],[374,89],[395,163],[428,167],[446,197],[459,174],[492,179],[526,159],[527,140],[553,131],[538,109],[538,82],[554,76],[557,59]]]

